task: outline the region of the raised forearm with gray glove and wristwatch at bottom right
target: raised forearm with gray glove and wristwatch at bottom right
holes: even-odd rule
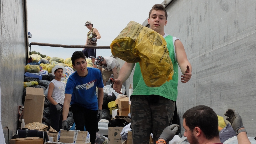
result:
[[[243,120],[238,112],[234,109],[228,109],[225,116],[227,116],[226,119],[231,123],[232,128],[237,134],[238,144],[251,143],[247,137],[247,131],[244,129]]]

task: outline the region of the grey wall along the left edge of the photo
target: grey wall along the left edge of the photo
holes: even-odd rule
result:
[[[18,106],[22,105],[27,58],[26,0],[0,0],[0,80],[2,126],[6,143],[18,124]]]

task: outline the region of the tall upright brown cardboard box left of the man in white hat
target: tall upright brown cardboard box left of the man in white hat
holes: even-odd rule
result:
[[[33,122],[42,123],[45,105],[44,89],[27,87],[27,94],[24,104],[25,124]]]

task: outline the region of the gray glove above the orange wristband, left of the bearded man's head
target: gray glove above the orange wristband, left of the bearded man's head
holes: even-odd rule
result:
[[[164,129],[159,139],[164,139],[166,143],[169,143],[171,141],[175,134],[177,133],[178,129],[180,128],[179,125],[170,125]]]

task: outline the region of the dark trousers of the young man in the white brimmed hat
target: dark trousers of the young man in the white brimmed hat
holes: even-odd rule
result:
[[[63,108],[63,105],[61,105],[60,103],[58,104]],[[55,105],[51,104],[50,116],[51,116],[50,126],[59,132],[60,129],[62,128],[62,112],[59,113]]]

